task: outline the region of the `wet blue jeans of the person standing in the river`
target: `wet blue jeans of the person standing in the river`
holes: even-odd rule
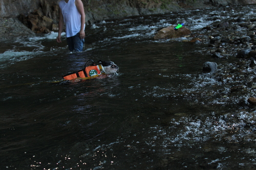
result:
[[[83,48],[84,39],[79,37],[79,33],[72,37],[67,38],[67,43],[69,46],[69,50],[71,52],[81,52]]]

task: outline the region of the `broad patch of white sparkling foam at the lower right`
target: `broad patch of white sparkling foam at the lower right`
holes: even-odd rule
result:
[[[233,122],[232,117],[237,117],[237,122]],[[181,117],[178,120],[171,121],[169,128],[175,128],[177,130],[176,134],[168,133],[166,128],[161,126],[151,127],[151,129],[157,133],[158,138],[163,133],[166,135],[164,145],[174,145],[176,147],[190,146],[194,142],[207,140],[221,141],[223,138],[230,142],[249,141],[251,130],[253,130],[255,124],[254,117],[255,115],[246,111],[241,111],[235,116],[232,114],[217,116],[212,113],[212,116],[205,120]],[[248,123],[251,124],[251,130],[248,130]],[[161,134],[159,134],[159,131],[161,131]],[[230,133],[230,131],[236,133]],[[249,137],[246,138],[246,136]]]

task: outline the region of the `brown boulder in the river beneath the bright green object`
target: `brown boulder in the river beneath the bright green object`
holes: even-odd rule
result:
[[[185,27],[174,30],[174,26],[169,26],[158,31],[154,39],[179,38],[189,34],[191,34],[191,31]]]

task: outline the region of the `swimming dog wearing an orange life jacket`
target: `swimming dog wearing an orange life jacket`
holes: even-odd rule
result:
[[[87,63],[92,61],[92,64],[87,66]],[[86,79],[93,79],[102,76],[108,76],[116,74],[118,71],[118,66],[113,61],[98,61],[99,64],[96,65],[93,60],[88,60],[84,65],[83,69],[80,69],[75,72],[71,72],[70,74],[62,76],[65,80],[77,80],[82,81]],[[75,82],[77,82],[75,81]]]

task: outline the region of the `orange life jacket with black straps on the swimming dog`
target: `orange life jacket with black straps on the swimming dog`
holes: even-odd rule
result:
[[[72,80],[75,78],[93,79],[104,74],[105,72],[103,71],[102,65],[100,64],[100,65],[90,65],[78,71],[71,72],[70,74],[64,75],[62,76],[62,78],[66,80]]]

